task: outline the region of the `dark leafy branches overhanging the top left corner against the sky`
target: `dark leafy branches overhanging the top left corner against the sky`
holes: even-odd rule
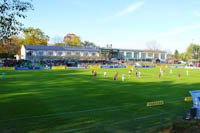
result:
[[[23,0],[0,1],[0,40],[5,41],[12,35],[17,35],[23,30],[23,24],[19,18],[26,18],[24,14],[33,9],[30,2]]]

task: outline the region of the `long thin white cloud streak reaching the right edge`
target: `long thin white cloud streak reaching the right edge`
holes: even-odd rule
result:
[[[157,35],[154,35],[153,38],[180,35],[181,33],[184,33],[190,30],[195,30],[195,29],[200,29],[200,24],[193,24],[193,25],[188,25],[188,26],[184,26],[180,28],[174,28],[174,29],[169,30],[168,32],[162,32]]]

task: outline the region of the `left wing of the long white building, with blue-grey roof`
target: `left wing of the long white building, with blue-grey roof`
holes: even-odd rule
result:
[[[99,48],[94,47],[23,45],[21,48],[21,59],[39,61],[49,58],[99,57],[99,51]]]

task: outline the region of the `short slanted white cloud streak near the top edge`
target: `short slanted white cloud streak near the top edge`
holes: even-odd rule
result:
[[[129,5],[126,9],[120,11],[117,16],[123,16],[123,15],[126,15],[128,13],[132,13],[134,12],[135,10],[139,9],[141,6],[144,5],[144,2],[137,2],[137,3],[134,3],[134,4],[131,4]]]

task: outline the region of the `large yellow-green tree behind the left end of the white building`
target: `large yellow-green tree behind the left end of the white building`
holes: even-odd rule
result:
[[[20,45],[47,45],[49,37],[41,29],[29,27],[24,30],[24,39],[21,39]]]

